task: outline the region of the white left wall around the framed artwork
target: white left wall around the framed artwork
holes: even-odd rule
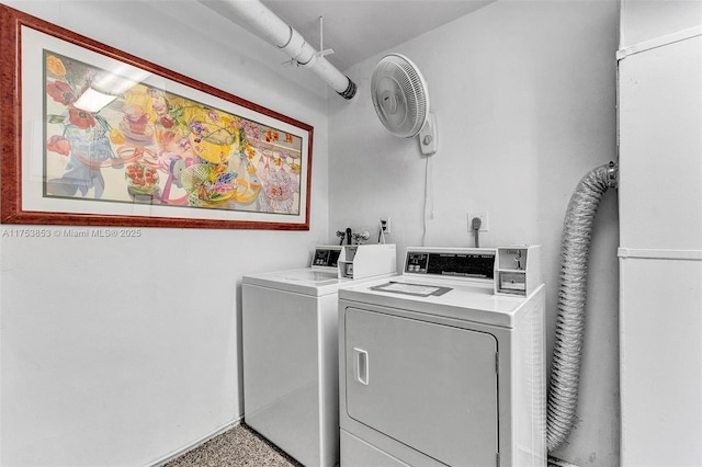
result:
[[[329,236],[326,87],[196,2],[4,3],[315,127],[309,231],[0,237],[0,464],[150,465],[242,414],[241,276]]]

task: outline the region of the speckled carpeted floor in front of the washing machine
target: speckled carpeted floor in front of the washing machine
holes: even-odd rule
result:
[[[213,437],[163,467],[302,467],[244,423]]]

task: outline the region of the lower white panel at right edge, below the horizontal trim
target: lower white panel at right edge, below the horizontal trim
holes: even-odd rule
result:
[[[621,465],[702,465],[702,261],[623,258]]]

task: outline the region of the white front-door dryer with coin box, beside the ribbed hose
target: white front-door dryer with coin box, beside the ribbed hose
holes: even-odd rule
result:
[[[546,465],[540,251],[410,248],[339,291],[341,467]]]

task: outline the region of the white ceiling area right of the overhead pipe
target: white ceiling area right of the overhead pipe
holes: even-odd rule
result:
[[[340,70],[390,49],[496,0],[262,0]],[[215,2],[207,2],[217,10]],[[237,18],[229,18],[238,23]],[[246,27],[245,24],[240,24]]]

